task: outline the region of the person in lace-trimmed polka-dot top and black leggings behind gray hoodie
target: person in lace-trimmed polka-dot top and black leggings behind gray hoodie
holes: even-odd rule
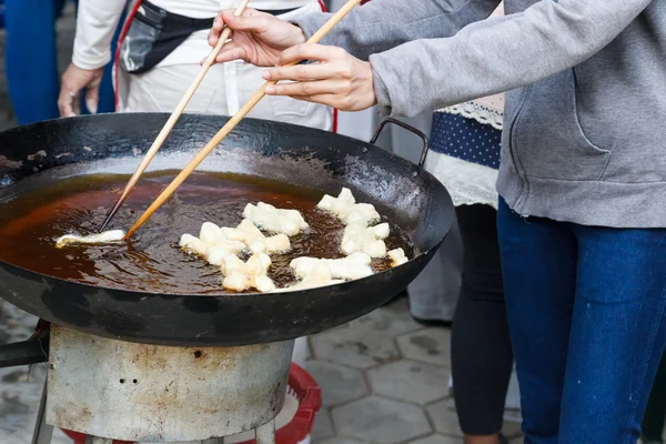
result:
[[[502,16],[500,6],[492,17]],[[463,280],[453,317],[453,396],[465,444],[503,444],[513,350],[504,303],[495,190],[504,94],[433,114],[426,169],[448,190],[463,242]]]

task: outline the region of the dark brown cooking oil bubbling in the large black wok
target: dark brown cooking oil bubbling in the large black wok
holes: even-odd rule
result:
[[[171,182],[176,171],[145,174],[109,229],[129,229]],[[188,255],[179,246],[181,234],[199,235],[203,222],[235,226],[249,203],[266,202],[299,210],[310,229],[290,238],[292,250],[273,255],[269,276],[278,286],[294,281],[289,263],[294,258],[337,259],[344,226],[316,209],[319,191],[255,176],[195,172],[128,242],[108,245],[71,245],[57,249],[54,240],[67,233],[95,232],[113,206],[129,175],[81,175],[21,193],[0,203],[0,260],[37,273],[84,284],[165,294],[221,294],[216,266]],[[408,258],[407,234],[391,224],[389,250],[402,248]],[[376,271],[387,260],[374,260]]]

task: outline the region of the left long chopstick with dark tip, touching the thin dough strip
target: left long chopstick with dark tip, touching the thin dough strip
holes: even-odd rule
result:
[[[248,3],[250,3],[250,0],[241,0],[238,8],[233,12],[233,14],[241,16],[243,13],[243,11],[245,10],[245,8],[248,7]],[[173,130],[175,122],[178,122],[181,114],[185,110],[185,107],[188,105],[188,103],[190,103],[192,95],[194,95],[194,92],[196,91],[196,89],[199,88],[201,82],[203,81],[203,78],[208,73],[209,69],[213,65],[215,58],[222,50],[222,47],[224,46],[226,40],[229,40],[230,36],[231,36],[231,29],[224,28],[224,30],[222,31],[222,36],[220,37],[220,40],[218,41],[218,44],[215,44],[215,48],[213,48],[211,53],[208,56],[208,58],[203,62],[201,70],[199,70],[199,73],[196,74],[196,77],[194,78],[192,83],[190,84],[190,88],[188,88],[188,91],[185,91],[185,94],[183,95],[180,103],[175,108],[175,111],[173,111],[173,113],[169,117],[169,120],[167,121],[167,123],[164,123],[164,127],[162,127],[162,130],[160,131],[160,133],[155,138],[154,142],[150,147],[150,150],[148,150],[148,152],[143,157],[143,160],[139,164],[139,168],[137,168],[137,171],[134,171],[134,174],[132,174],[132,176],[128,181],[128,184],[125,185],[124,190],[122,191],[121,196],[115,202],[115,205],[113,205],[113,209],[109,212],[109,215],[107,215],[104,223],[102,223],[102,226],[100,226],[100,233],[102,231],[104,231],[104,229],[107,228],[109,222],[111,222],[111,219],[113,219],[113,216],[115,215],[118,210],[120,210],[120,208],[122,206],[124,201],[128,199],[128,196],[134,189],[134,185],[137,184],[137,182],[139,182],[139,179],[141,179],[141,174],[143,174],[143,172],[145,171],[145,169],[148,168],[150,162],[153,160],[153,158],[158,153],[158,150],[160,150],[160,148],[162,147],[162,143],[164,143],[164,140],[167,139],[167,137],[169,135],[171,130]]]

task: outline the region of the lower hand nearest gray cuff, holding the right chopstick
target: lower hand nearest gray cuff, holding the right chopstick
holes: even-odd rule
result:
[[[317,63],[285,64],[314,60]],[[280,56],[279,65],[264,71],[265,80],[291,80],[266,89],[269,95],[289,95],[337,108],[360,111],[376,103],[372,65],[336,47],[303,43]]]

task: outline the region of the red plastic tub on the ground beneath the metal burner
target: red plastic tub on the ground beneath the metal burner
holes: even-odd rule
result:
[[[275,431],[276,444],[299,444],[312,433],[314,420],[322,407],[322,390],[314,379],[300,365],[292,363],[289,371],[287,396],[299,400],[299,408],[294,417],[283,427]],[[85,435],[79,432],[65,431],[74,444],[85,444]],[[113,444],[134,444],[128,441],[113,441]],[[254,440],[240,444],[255,444]]]

